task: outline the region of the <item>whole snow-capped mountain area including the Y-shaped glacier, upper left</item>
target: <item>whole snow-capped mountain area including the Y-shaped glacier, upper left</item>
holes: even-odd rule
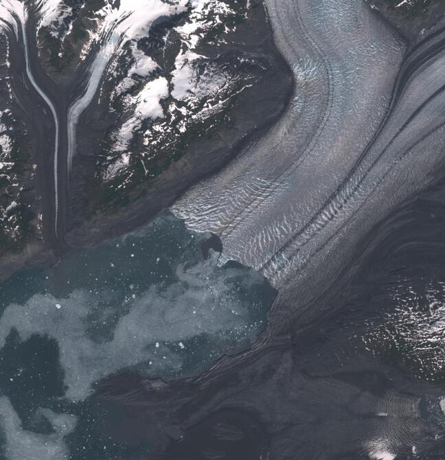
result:
[[[48,200],[59,238],[65,217],[72,227],[98,211],[114,213],[157,188],[162,175],[172,190],[149,206],[160,209],[220,168],[238,142],[277,117],[290,93],[258,0],[1,0],[0,9],[0,161],[6,171],[25,155],[23,183],[9,175],[8,187],[33,189],[25,207],[36,234]],[[19,79],[24,62],[30,84]],[[27,97],[43,110],[31,116],[32,129]],[[13,121],[29,137],[15,159]],[[38,146],[43,131],[53,146]],[[1,207],[9,218],[21,209],[19,196],[9,193]]]

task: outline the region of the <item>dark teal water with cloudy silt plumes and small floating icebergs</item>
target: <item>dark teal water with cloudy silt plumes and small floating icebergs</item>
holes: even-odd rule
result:
[[[97,382],[122,371],[178,378],[252,345],[275,290],[240,264],[218,267],[212,240],[163,214],[1,286],[3,458],[147,452],[106,433],[122,414],[91,398]]]

